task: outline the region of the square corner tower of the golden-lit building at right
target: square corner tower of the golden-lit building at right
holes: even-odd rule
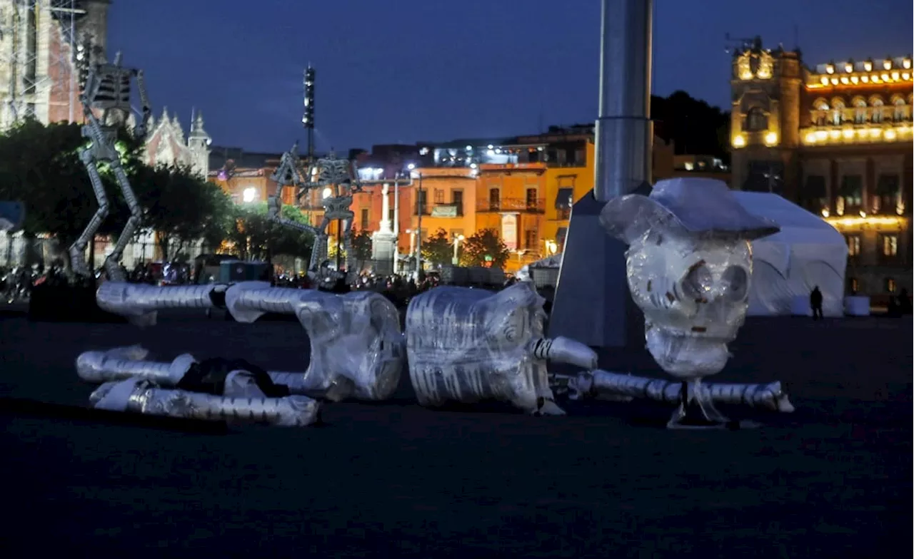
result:
[[[734,52],[730,79],[732,185],[791,196],[798,179],[802,60],[799,50],[764,48],[760,37]]]

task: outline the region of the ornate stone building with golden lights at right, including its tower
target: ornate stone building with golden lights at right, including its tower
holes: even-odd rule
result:
[[[907,57],[807,68],[799,50],[735,53],[732,185],[823,216],[850,254],[847,290],[876,300],[914,288],[914,69]]]

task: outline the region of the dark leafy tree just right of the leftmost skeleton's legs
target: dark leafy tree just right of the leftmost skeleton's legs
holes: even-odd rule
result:
[[[231,201],[218,185],[189,167],[143,166],[133,182],[143,207],[143,227],[156,232],[164,260],[175,258],[200,239],[218,247],[227,236],[233,216]]]

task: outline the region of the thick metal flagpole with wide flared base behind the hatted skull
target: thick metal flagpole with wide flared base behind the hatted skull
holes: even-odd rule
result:
[[[594,188],[571,208],[550,337],[600,348],[643,347],[641,312],[628,289],[626,247],[600,226],[600,211],[613,197],[650,193],[653,10],[653,0],[602,0]],[[631,352],[614,354],[622,353]]]

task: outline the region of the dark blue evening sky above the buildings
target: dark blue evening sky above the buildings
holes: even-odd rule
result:
[[[794,44],[807,65],[914,51],[910,0],[656,0],[654,93],[728,103],[724,36]],[[318,150],[537,132],[593,121],[600,0],[114,0],[109,50],[145,70],[156,116],[204,112],[218,145]]]

